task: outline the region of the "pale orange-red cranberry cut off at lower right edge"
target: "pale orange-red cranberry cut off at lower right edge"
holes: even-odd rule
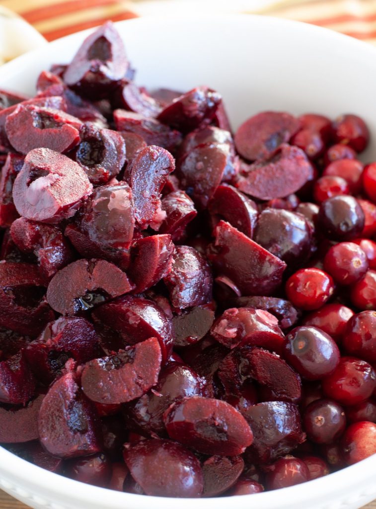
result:
[[[355,422],[345,431],[341,444],[348,465],[376,454],[376,424],[365,420]]]

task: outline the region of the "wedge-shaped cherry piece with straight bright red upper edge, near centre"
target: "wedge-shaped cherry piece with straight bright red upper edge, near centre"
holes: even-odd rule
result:
[[[243,295],[271,295],[282,283],[286,264],[225,221],[214,231],[208,258]]]

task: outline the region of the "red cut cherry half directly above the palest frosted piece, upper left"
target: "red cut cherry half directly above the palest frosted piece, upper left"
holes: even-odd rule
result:
[[[78,145],[81,127],[79,119],[64,111],[22,103],[5,123],[12,147],[25,155],[40,147],[67,152]]]

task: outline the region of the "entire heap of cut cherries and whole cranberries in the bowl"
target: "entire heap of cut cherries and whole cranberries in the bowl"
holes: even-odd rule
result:
[[[129,493],[243,495],[376,453],[368,130],[148,92],[111,23],[0,92],[0,443]]]

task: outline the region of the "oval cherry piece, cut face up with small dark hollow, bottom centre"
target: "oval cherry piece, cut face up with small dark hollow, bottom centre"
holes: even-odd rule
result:
[[[199,453],[237,456],[251,445],[253,434],[244,417],[228,403],[192,396],[173,403],[163,421],[170,438]]]

